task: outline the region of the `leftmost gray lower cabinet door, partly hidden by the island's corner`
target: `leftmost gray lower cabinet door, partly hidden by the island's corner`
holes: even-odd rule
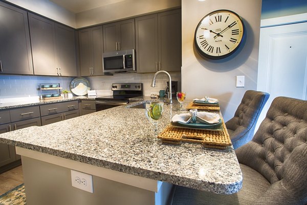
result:
[[[0,125],[0,134],[9,132],[10,124]],[[0,143],[0,167],[16,160],[14,146]]]

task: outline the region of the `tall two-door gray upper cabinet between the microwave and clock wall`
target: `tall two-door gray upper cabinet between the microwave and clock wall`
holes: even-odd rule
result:
[[[181,71],[181,10],[141,16],[135,21],[137,72]]]

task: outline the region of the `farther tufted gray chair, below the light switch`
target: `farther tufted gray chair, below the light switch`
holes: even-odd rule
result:
[[[265,92],[246,91],[234,117],[225,122],[234,149],[252,140],[257,120],[269,96]]]

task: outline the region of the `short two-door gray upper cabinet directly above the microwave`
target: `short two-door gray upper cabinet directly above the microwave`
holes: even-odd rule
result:
[[[135,19],[103,25],[103,52],[135,49]]]

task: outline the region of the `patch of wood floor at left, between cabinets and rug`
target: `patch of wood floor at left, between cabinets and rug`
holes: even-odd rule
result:
[[[24,183],[23,167],[19,166],[0,174],[0,195]]]

